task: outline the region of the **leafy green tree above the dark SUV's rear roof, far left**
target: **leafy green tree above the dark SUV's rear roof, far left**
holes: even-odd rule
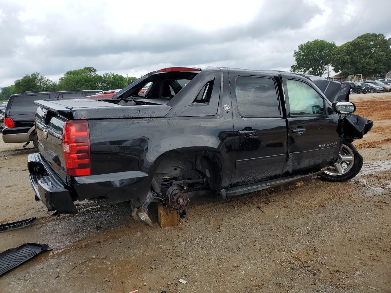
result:
[[[56,87],[57,83],[54,80],[48,79],[39,72],[34,72],[15,80],[11,87],[11,94],[24,93],[25,91],[52,91]]]

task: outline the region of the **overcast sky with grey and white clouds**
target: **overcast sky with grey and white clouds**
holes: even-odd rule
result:
[[[0,0],[0,86],[93,66],[140,77],[160,68],[289,70],[298,45],[391,37],[388,1]]]

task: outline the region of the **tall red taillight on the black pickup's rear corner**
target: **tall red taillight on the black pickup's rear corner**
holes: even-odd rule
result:
[[[69,176],[91,174],[90,132],[87,120],[68,120],[63,128],[63,156]]]

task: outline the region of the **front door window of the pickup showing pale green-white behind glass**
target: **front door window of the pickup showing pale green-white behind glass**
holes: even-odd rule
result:
[[[323,98],[308,84],[299,80],[287,80],[291,116],[325,114]]]

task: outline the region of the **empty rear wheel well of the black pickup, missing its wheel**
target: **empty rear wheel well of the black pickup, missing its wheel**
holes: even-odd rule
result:
[[[161,175],[181,177],[182,180],[204,176],[210,189],[220,190],[222,182],[221,160],[216,152],[171,151],[161,157],[154,179],[161,186]]]

